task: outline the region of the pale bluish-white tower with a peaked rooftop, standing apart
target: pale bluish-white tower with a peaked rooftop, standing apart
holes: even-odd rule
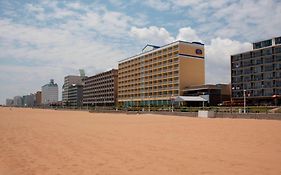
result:
[[[58,85],[51,79],[50,83],[42,86],[42,104],[58,102]]]

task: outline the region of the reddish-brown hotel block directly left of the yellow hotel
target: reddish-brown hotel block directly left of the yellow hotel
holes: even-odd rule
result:
[[[83,105],[115,106],[117,102],[118,70],[102,72],[85,79]]]

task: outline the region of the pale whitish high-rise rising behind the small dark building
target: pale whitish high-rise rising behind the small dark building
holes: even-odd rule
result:
[[[83,79],[82,76],[77,76],[77,75],[68,75],[68,76],[64,77],[64,84],[62,86],[63,105],[65,105],[65,106],[69,105],[69,88],[73,84],[78,85],[78,86],[82,85],[82,79]],[[79,87],[77,87],[77,88],[79,89]]]

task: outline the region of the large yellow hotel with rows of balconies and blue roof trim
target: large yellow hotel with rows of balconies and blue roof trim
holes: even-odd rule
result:
[[[184,88],[204,83],[204,44],[198,42],[147,45],[118,64],[118,102],[123,106],[169,105]]]

